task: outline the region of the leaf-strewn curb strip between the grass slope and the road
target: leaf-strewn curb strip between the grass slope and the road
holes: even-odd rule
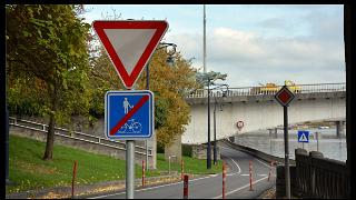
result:
[[[205,177],[200,174],[189,174],[189,178]],[[146,178],[146,187],[161,183],[179,182],[180,174],[160,176]],[[125,190],[126,180],[99,182],[92,184],[81,184],[75,187],[75,198],[99,194],[110,191]],[[135,179],[136,189],[142,188],[141,179]],[[19,193],[7,194],[6,199],[67,199],[71,198],[71,187],[56,187],[41,190],[29,190]]]

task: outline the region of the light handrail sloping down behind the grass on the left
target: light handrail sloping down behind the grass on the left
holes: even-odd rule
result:
[[[14,127],[20,127],[23,129],[30,129],[33,131],[43,132],[43,133],[46,133],[48,131],[48,124],[38,123],[34,121],[22,120],[22,119],[19,120],[13,117],[9,117],[9,124],[14,126]],[[31,126],[31,127],[29,127],[29,126]],[[88,143],[96,143],[99,146],[105,146],[105,147],[126,151],[126,142],[113,141],[113,140],[109,140],[107,138],[87,134],[83,132],[70,131],[68,129],[55,127],[55,136],[59,136],[62,138],[69,138],[69,139],[73,139],[73,140],[79,140],[79,141],[83,141],[83,142],[88,142]],[[81,137],[81,138],[79,138],[79,137]],[[119,146],[121,146],[121,147],[119,147]],[[145,147],[135,146],[135,148],[141,149],[145,151],[145,152],[135,151],[136,153],[146,156],[146,148]],[[148,156],[152,157],[152,150],[151,149],[148,149],[148,150],[149,150]]]

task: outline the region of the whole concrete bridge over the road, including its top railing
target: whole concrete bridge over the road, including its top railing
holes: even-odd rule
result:
[[[299,84],[300,90],[289,103],[289,124],[313,121],[337,121],[346,118],[346,83]],[[280,86],[281,87],[281,86]],[[210,90],[210,140],[214,140],[216,109],[217,140],[283,126],[283,107],[275,100],[275,91],[256,92],[256,87]],[[191,106],[191,121],[181,138],[182,143],[200,144],[208,141],[207,90],[197,90],[186,98]],[[338,119],[338,120],[336,120]],[[237,124],[238,123],[238,124]],[[343,128],[338,127],[338,130]]]

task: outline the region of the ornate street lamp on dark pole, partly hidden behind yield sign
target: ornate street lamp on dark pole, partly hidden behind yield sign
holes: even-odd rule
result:
[[[170,47],[170,49],[168,49]],[[159,43],[159,47],[156,50],[166,48],[166,53],[168,54],[168,58],[166,60],[167,64],[172,67],[175,64],[174,54],[176,53],[177,44],[175,43],[166,43],[161,42]],[[149,61],[146,66],[146,90],[149,90]],[[146,170],[148,171],[148,142],[146,140]]]

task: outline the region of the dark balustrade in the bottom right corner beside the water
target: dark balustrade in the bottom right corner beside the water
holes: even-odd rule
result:
[[[296,192],[304,198],[344,199],[350,197],[350,174],[346,162],[323,153],[296,149]]]

